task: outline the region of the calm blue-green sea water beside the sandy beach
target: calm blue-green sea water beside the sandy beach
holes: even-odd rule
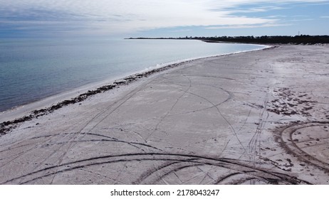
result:
[[[181,40],[0,40],[0,112],[165,63],[259,48]]]

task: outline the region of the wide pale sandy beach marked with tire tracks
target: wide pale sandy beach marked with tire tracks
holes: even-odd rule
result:
[[[118,84],[2,135],[0,184],[329,184],[328,70],[278,45]]]

